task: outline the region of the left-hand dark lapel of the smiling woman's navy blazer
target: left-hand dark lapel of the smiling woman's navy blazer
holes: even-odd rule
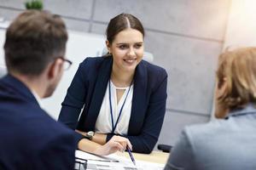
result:
[[[99,69],[99,73],[96,78],[96,85],[94,88],[94,92],[92,94],[90,107],[88,109],[88,115],[87,115],[86,121],[84,122],[84,127],[88,127],[88,129],[85,129],[85,130],[90,131],[90,130],[94,130],[95,128],[96,120],[102,106],[102,100],[106,93],[108,80],[112,71],[112,63],[113,63],[112,57],[104,59]]]

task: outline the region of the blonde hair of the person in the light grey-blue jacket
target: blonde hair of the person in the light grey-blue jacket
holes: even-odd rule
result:
[[[256,103],[256,48],[238,48],[219,56],[218,88],[226,83],[218,105],[226,109],[242,108]]]

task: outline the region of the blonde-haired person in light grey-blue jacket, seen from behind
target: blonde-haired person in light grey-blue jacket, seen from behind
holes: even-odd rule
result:
[[[256,48],[219,57],[215,116],[185,127],[165,169],[256,169]]]

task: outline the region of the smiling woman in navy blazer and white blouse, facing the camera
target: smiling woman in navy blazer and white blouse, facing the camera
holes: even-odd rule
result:
[[[99,151],[96,144],[114,140],[120,150],[128,144],[150,153],[166,113],[166,71],[143,60],[144,29],[135,16],[115,16],[106,34],[108,54],[79,65],[59,121],[78,132],[81,150],[106,155],[115,150]]]

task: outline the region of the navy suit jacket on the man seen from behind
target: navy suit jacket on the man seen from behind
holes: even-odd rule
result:
[[[15,77],[0,79],[0,169],[73,169],[72,130],[55,122]]]

